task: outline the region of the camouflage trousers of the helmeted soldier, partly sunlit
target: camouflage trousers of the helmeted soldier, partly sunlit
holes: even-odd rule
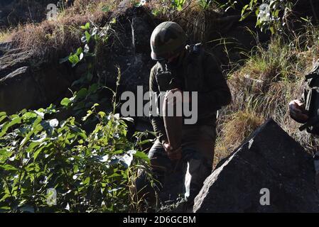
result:
[[[181,160],[170,160],[159,140],[156,140],[149,150],[148,157],[151,161],[153,177],[159,182],[158,191],[161,190],[165,178],[173,173],[176,165],[182,166],[183,176],[180,177],[183,177],[184,199],[191,206],[204,180],[212,172],[216,129],[214,126],[207,125],[185,125],[182,134]],[[144,172],[140,172],[136,179],[136,192],[148,194],[146,196],[148,200],[155,199],[156,192],[150,187]]]

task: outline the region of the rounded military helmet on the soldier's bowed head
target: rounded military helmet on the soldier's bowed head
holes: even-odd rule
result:
[[[151,35],[151,57],[153,60],[167,59],[183,50],[185,45],[185,31],[178,23],[160,23]]]

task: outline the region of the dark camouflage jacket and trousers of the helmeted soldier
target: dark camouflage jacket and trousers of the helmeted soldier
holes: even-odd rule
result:
[[[167,79],[165,75],[173,79]],[[173,84],[170,83],[173,81]],[[185,199],[192,204],[205,178],[212,171],[216,138],[217,110],[231,101],[227,82],[215,57],[205,52],[201,45],[186,46],[174,64],[157,62],[151,69],[149,88],[151,93],[178,88],[182,91],[198,92],[198,121],[194,125],[183,125],[182,160]],[[158,106],[151,106],[158,108]],[[163,117],[150,116],[157,140],[148,153],[151,167],[159,182],[170,174],[175,161],[168,158],[163,148],[167,141]],[[146,184],[143,174],[137,180],[141,189]],[[139,186],[140,185],[140,186]],[[148,189],[146,189],[147,191]]]

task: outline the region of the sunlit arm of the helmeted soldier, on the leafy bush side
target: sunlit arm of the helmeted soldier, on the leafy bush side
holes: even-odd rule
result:
[[[155,78],[154,67],[152,68],[151,74],[149,77],[149,90],[150,90],[150,96],[152,96],[152,95],[154,96],[154,94],[155,94],[157,99],[158,99],[158,102],[157,102],[158,106],[153,106],[153,104],[151,102],[149,116],[151,119],[153,130],[156,133],[156,138],[158,138],[158,140],[160,140],[160,142],[163,144],[163,142],[167,141],[163,117],[153,116],[151,114],[152,109],[160,108],[160,106],[159,106],[159,104],[160,104],[160,102],[159,102],[160,91],[158,91],[158,85],[157,85],[156,78]]]

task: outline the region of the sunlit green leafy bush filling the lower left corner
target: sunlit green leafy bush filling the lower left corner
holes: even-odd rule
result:
[[[97,111],[99,104],[80,122],[55,118],[76,100],[63,99],[60,109],[0,114],[0,211],[115,212],[134,206],[134,176],[148,170],[147,155],[136,150],[145,141],[129,141],[131,119]],[[87,133],[82,123],[90,118],[98,123]],[[55,206],[48,205],[48,189],[57,192]]]

